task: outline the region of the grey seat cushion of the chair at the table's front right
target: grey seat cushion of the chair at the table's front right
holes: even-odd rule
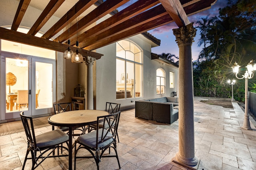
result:
[[[101,139],[101,134],[102,134],[102,131],[104,131],[104,135],[106,135],[106,139],[109,138],[109,137],[112,137],[112,134],[110,132],[107,132],[105,129],[99,129],[98,130],[99,134],[98,134],[98,141],[100,141]],[[96,133],[97,131],[92,131],[90,133],[86,133],[84,135],[81,135],[78,137],[78,139],[76,139],[76,141],[82,143],[83,145],[86,145],[90,148],[96,148]],[[106,147],[107,145],[111,144],[112,142],[114,141],[113,138],[110,138],[102,143],[98,143],[98,147],[101,148],[101,147]]]

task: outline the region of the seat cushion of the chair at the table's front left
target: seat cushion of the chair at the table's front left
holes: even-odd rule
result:
[[[38,148],[50,147],[66,141],[68,141],[68,135],[60,129],[36,136],[36,144]]]

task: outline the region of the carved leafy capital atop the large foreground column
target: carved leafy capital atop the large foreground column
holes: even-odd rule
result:
[[[176,42],[179,45],[192,44],[194,37],[196,36],[196,29],[193,27],[193,22],[177,29],[172,29],[173,34],[176,37]]]

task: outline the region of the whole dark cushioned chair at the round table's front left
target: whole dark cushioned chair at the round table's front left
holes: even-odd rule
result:
[[[46,158],[68,156],[68,154],[54,154],[55,149],[60,147],[59,145],[61,145],[61,149],[68,150],[67,147],[62,145],[63,143],[68,145],[68,135],[65,132],[56,129],[36,136],[32,117],[24,115],[23,111],[20,113],[20,117],[28,141],[28,148],[22,169],[25,168],[28,159],[32,159],[31,169],[34,170]],[[28,157],[29,152],[31,153],[31,157]]]

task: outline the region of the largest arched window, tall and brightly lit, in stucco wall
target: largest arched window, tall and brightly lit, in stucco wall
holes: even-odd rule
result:
[[[142,96],[142,50],[128,40],[116,43],[116,98]]]

